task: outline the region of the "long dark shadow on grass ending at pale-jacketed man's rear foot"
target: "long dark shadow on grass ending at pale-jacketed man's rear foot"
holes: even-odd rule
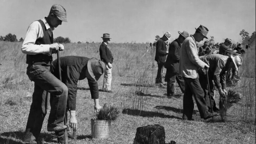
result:
[[[132,110],[132,109],[124,109],[122,111],[123,114],[131,115],[131,116],[142,116],[142,117],[160,117],[160,118],[170,118],[170,119],[179,119],[182,118],[177,116],[169,116],[159,112],[153,111],[140,111],[140,110]]]

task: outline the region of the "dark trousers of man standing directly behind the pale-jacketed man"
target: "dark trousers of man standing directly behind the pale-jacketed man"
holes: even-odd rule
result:
[[[174,83],[175,79],[182,91],[185,91],[185,83],[183,77],[177,72],[170,72],[170,69],[166,69],[165,79],[164,81],[167,82],[167,96],[174,96]]]

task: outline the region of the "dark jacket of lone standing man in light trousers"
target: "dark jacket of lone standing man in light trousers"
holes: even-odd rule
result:
[[[103,62],[105,62],[106,64],[113,63],[114,58],[108,46],[104,42],[102,42],[100,46],[100,57],[101,60],[103,60]]]

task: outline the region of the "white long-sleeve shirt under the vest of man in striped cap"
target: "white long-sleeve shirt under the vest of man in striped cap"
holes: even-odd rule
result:
[[[54,28],[51,28],[45,18],[42,19],[47,32],[51,35]],[[49,45],[35,45],[35,42],[38,38],[43,38],[43,28],[38,21],[34,21],[29,25],[27,33],[24,37],[22,43],[21,51],[24,54],[36,55],[36,54],[47,54],[51,55],[52,50],[50,50]]]

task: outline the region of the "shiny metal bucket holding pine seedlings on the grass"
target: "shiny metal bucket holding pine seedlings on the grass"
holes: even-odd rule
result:
[[[108,139],[110,137],[110,120],[91,119],[92,138]]]

